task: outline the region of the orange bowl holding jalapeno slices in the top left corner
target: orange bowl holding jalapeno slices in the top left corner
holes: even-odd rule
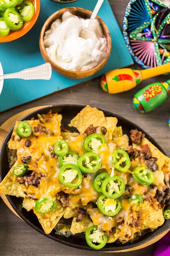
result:
[[[33,18],[30,21],[25,22],[21,29],[17,31],[11,30],[8,36],[4,36],[4,37],[0,36],[0,43],[11,42],[15,39],[18,39],[21,36],[24,36],[24,34],[26,34],[33,27],[40,13],[40,0],[29,0],[29,1],[32,2],[35,7],[35,13],[33,15]]]

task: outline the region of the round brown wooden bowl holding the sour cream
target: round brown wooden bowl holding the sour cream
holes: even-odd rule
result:
[[[44,34],[45,31],[49,30],[51,27],[51,24],[56,20],[56,19],[61,19],[62,18],[62,14],[66,11],[70,11],[72,14],[82,17],[82,18],[90,18],[92,12],[88,11],[86,9],[82,9],[82,8],[78,8],[78,7],[67,7],[64,9],[61,9],[59,11],[56,11],[55,13],[53,13],[44,23],[41,33],[40,33],[40,52],[42,54],[42,57],[44,58],[44,61],[51,63],[52,69],[57,72],[58,74],[61,74],[63,76],[69,77],[69,78],[73,78],[73,79],[79,79],[79,78],[85,78],[88,76],[92,76],[93,74],[97,73],[99,70],[102,69],[102,67],[104,67],[104,65],[106,64],[106,62],[108,61],[108,58],[110,56],[110,52],[111,52],[111,37],[110,37],[110,32],[108,30],[108,27],[106,26],[106,24],[104,23],[104,21],[99,18],[99,16],[96,17],[96,19],[99,21],[102,30],[103,30],[103,34],[106,37],[107,40],[107,50],[106,50],[106,54],[104,56],[104,58],[102,58],[102,60],[95,66],[92,67],[88,70],[84,70],[84,71],[71,71],[71,70],[65,70],[64,68],[56,65],[53,61],[51,61],[51,58],[49,58],[49,56],[46,53],[46,49],[44,47]]]

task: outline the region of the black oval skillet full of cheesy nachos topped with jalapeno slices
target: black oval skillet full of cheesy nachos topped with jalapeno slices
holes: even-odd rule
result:
[[[170,158],[144,130],[90,106],[30,113],[0,149],[0,193],[57,242],[113,252],[170,228]]]

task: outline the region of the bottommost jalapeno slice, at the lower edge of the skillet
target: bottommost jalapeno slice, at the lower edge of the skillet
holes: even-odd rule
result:
[[[97,226],[91,226],[86,230],[86,242],[88,246],[95,250],[102,249],[108,240],[108,236],[105,233],[97,230]]]

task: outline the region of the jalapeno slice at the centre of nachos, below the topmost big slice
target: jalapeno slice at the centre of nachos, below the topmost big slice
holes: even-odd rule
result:
[[[94,152],[88,152],[77,161],[77,166],[82,173],[95,173],[101,166],[101,158]]]

